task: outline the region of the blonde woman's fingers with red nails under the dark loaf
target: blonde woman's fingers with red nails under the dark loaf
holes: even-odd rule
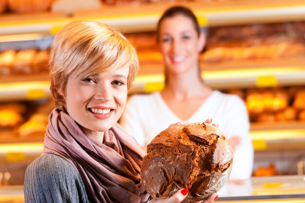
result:
[[[181,203],[188,195],[188,189],[180,189],[178,190],[172,197],[168,199],[152,199],[150,203]],[[210,196],[208,199],[204,201],[198,201],[194,203],[212,203],[214,200],[216,200],[218,195],[215,193],[212,196]]]

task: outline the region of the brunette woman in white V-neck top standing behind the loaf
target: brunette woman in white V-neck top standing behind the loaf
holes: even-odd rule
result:
[[[165,64],[161,92],[129,98],[120,124],[143,148],[171,123],[202,123],[213,118],[234,150],[230,180],[251,176],[253,146],[246,106],[236,95],[212,90],[201,77],[199,54],[206,44],[192,11],[169,8],[157,24],[157,43]]]

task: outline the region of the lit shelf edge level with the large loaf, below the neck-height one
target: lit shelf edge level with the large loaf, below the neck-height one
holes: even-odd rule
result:
[[[305,121],[251,123],[250,137],[256,151],[304,149]],[[22,137],[10,132],[0,132],[0,154],[40,154],[42,148],[43,134]]]

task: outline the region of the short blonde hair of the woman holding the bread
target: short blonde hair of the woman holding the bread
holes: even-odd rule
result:
[[[66,111],[64,99],[69,76],[88,76],[129,66],[127,87],[139,69],[133,45],[120,32],[99,22],[76,20],[57,33],[50,55],[51,93],[56,108]]]

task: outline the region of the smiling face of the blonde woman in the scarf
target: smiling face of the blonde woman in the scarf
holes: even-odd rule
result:
[[[87,131],[112,128],[126,104],[128,73],[126,66],[87,77],[70,77],[65,98],[69,115]]]

